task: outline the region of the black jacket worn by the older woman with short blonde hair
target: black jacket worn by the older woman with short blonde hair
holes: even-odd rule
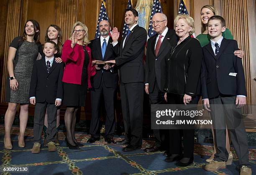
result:
[[[197,95],[202,65],[202,47],[197,39],[189,36],[179,45],[172,47],[166,65],[168,77],[165,92]]]

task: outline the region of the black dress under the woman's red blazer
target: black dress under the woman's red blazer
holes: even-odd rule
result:
[[[88,87],[87,66],[89,61],[89,55],[84,48],[84,64],[82,69],[81,85],[63,82],[64,96],[62,104],[64,106],[85,106]]]

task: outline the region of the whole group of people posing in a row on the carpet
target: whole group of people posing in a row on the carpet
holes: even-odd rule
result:
[[[32,153],[40,153],[41,133],[44,145],[55,151],[58,141],[59,106],[66,106],[64,115],[67,147],[78,149],[74,128],[76,114],[85,105],[90,88],[92,118],[91,138],[100,140],[100,107],[104,98],[106,109],[105,141],[126,145],[123,151],[141,149],[143,128],[143,91],[150,104],[197,104],[202,96],[213,121],[214,151],[207,159],[205,170],[216,171],[232,163],[230,141],[239,159],[241,175],[251,174],[248,163],[248,144],[240,108],[225,105],[246,104],[246,85],[236,40],[225,27],[225,20],[211,5],[201,9],[202,34],[196,38],[194,20],[178,15],[174,30],[167,28],[167,17],[156,13],[152,26],[157,33],[147,41],[147,32],[137,25],[138,12],[125,10],[129,30],[119,42],[117,28],[102,20],[100,37],[89,41],[86,25],[73,25],[69,40],[62,46],[62,32],[56,25],[46,30],[45,43],[39,42],[40,27],[28,20],[23,35],[10,43],[5,113],[5,149],[12,149],[10,130],[20,104],[20,134],[18,146],[25,147],[24,134],[29,103],[36,105]],[[143,56],[146,49],[146,65]],[[104,62],[103,62],[104,61]],[[65,64],[64,64],[64,63]],[[102,63],[103,62],[103,63]],[[115,129],[114,101],[120,77],[125,139],[113,140]],[[223,105],[223,107],[211,107]],[[46,112],[47,111],[47,112]],[[226,129],[229,128],[229,130]],[[229,132],[228,132],[229,131]],[[228,137],[230,133],[230,138]],[[177,161],[177,166],[188,166],[194,160],[194,129],[154,130],[155,145],[146,152],[163,150],[166,162]]]

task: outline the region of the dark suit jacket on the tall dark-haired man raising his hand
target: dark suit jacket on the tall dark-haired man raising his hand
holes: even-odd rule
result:
[[[115,63],[120,67],[120,79],[123,83],[144,82],[143,56],[147,40],[147,32],[136,25],[128,38],[115,45],[115,52],[119,55]]]

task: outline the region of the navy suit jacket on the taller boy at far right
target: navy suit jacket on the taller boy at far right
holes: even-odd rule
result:
[[[220,51],[215,56],[211,43],[203,47],[203,69],[205,85],[202,86],[202,98],[223,95],[246,95],[246,84],[242,60],[234,55],[238,50],[236,40],[223,38]],[[236,76],[229,75],[237,73]],[[205,88],[203,88],[205,87]]]

